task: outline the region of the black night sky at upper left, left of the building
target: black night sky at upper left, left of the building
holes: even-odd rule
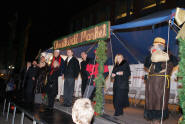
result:
[[[20,21],[18,29],[25,23],[28,17],[32,20],[27,55],[30,58],[34,58],[39,49],[46,50],[52,46],[54,39],[68,34],[67,28],[69,27],[67,26],[71,16],[96,3],[96,1],[7,1],[3,11],[1,30],[4,32],[4,35],[1,41],[8,42],[8,20],[11,20],[13,12],[18,11],[18,19]]]

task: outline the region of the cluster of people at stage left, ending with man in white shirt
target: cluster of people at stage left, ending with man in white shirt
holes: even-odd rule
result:
[[[46,93],[48,106],[53,108],[58,94],[58,77],[62,76],[65,79],[64,105],[72,106],[75,78],[80,72],[80,66],[71,49],[67,50],[67,56],[64,61],[60,56],[60,51],[55,50],[50,65],[46,63],[45,56],[42,55],[39,64],[35,60],[32,65],[30,62],[27,63],[21,85],[25,102],[33,104],[35,94]]]

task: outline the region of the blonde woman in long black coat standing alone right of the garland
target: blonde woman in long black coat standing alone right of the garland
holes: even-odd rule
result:
[[[112,71],[114,78],[113,84],[113,105],[115,109],[114,116],[123,115],[123,108],[129,106],[129,76],[130,67],[123,55],[117,54],[115,57],[115,66]]]

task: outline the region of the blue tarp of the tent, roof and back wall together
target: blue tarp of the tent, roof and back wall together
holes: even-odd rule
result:
[[[155,37],[162,37],[168,41],[168,20],[173,22],[174,12],[175,10],[166,10],[132,22],[111,26],[111,38],[107,42],[107,64],[112,64],[113,58],[118,53],[123,54],[130,64],[143,63]],[[166,23],[161,24],[162,22]],[[143,28],[146,26],[148,27]],[[169,28],[169,48],[172,54],[178,56],[178,45],[175,38],[178,30],[173,25],[171,26],[172,28]],[[93,51],[96,47],[97,44],[89,44],[73,48],[73,51],[77,57],[80,57],[82,51],[86,51],[90,58],[94,58]],[[52,52],[52,50],[46,52]],[[66,51],[61,51],[61,54],[66,55]]]

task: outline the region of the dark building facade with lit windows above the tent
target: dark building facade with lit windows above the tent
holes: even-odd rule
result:
[[[103,21],[125,23],[156,11],[183,7],[184,0],[99,0],[71,18],[70,33]]]

